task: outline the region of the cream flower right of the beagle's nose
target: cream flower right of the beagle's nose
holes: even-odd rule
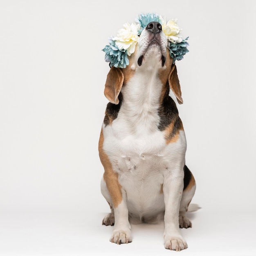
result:
[[[166,20],[164,18],[162,29],[164,34],[166,34],[168,41],[171,41],[172,43],[182,42],[182,36],[180,35],[181,29],[177,25],[177,19],[169,20],[166,24]]]

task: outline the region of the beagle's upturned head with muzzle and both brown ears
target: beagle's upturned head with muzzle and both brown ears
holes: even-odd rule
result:
[[[125,67],[112,65],[110,68],[104,90],[106,98],[111,103],[118,104],[122,86],[126,85],[135,74],[149,71],[158,76],[163,86],[168,84],[178,103],[182,104],[175,61],[169,52],[169,42],[162,25],[157,21],[149,22],[141,31],[134,52],[128,56],[129,65]]]

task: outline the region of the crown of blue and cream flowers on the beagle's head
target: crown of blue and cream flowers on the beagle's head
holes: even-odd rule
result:
[[[102,51],[105,52],[105,61],[110,62],[110,67],[125,68],[129,65],[128,56],[135,51],[135,45],[141,31],[152,21],[159,22],[162,25],[162,31],[166,35],[173,63],[176,60],[183,59],[183,56],[189,52],[187,49],[189,44],[186,42],[189,38],[182,39],[181,29],[177,26],[177,19],[169,20],[166,23],[165,18],[157,13],[145,13],[139,14],[135,23],[125,23],[124,28],[118,31],[117,36],[108,39],[109,45],[106,45]]]

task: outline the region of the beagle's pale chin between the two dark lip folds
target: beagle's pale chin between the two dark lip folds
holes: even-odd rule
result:
[[[164,67],[166,61],[166,52],[163,53],[161,47],[158,44],[149,45],[146,52],[141,54],[138,58],[138,65],[141,67],[142,65],[148,63],[150,66],[160,65]]]

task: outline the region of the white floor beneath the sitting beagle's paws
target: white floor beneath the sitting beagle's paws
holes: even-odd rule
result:
[[[0,214],[0,255],[256,256],[255,213],[189,213],[193,228],[182,229],[189,245],[182,252],[164,249],[163,223],[132,225],[132,243],[112,244],[104,214]]]

